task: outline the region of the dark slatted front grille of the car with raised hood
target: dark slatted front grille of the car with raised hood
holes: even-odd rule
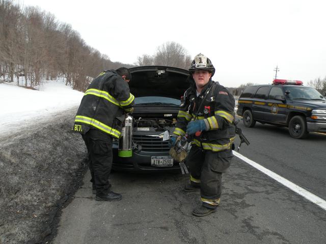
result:
[[[162,138],[145,136],[145,135],[133,135],[133,142],[142,146],[142,151],[169,151],[169,141],[162,141]]]

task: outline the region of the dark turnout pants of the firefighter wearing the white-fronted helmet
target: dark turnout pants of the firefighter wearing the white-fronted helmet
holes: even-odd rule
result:
[[[228,155],[223,153],[223,156]],[[220,204],[222,193],[222,173],[229,168],[231,157],[222,158],[222,154],[192,146],[187,158],[190,180],[193,186],[200,185],[203,206],[216,208]]]

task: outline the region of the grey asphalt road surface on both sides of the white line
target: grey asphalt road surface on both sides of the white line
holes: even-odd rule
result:
[[[240,154],[326,199],[326,135],[297,140],[285,128],[239,126],[251,142]],[[202,218],[191,214],[199,192],[183,192],[181,174],[114,172],[119,202],[95,201],[89,178],[63,209],[53,243],[326,243],[324,209],[236,157],[221,206]]]

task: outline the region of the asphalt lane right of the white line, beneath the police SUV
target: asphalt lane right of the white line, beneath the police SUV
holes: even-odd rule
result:
[[[326,200],[326,134],[293,139],[284,127],[256,123],[246,128],[242,121],[238,125],[251,142],[241,145],[241,155]]]

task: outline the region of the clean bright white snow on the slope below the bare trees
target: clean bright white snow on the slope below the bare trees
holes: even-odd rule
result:
[[[0,135],[78,106],[84,96],[62,80],[45,81],[38,88],[0,83]]]

